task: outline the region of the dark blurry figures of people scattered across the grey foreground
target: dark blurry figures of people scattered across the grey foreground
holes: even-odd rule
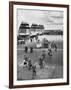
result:
[[[55,51],[57,51],[57,46],[56,44],[53,42],[51,44],[51,48],[48,48],[48,56],[52,57],[52,48],[55,49]],[[30,47],[30,53],[33,53],[34,50],[33,47]],[[25,55],[24,55],[24,59],[23,59],[23,66],[27,67],[28,70],[32,70],[32,78],[34,79],[34,77],[36,76],[36,65],[32,64],[32,60],[30,57],[27,56],[27,52],[28,52],[28,47],[25,46]],[[40,55],[40,57],[38,58],[38,65],[40,67],[40,69],[44,68],[45,66],[45,61],[46,61],[46,56],[47,53],[45,50],[42,50],[42,53]]]

